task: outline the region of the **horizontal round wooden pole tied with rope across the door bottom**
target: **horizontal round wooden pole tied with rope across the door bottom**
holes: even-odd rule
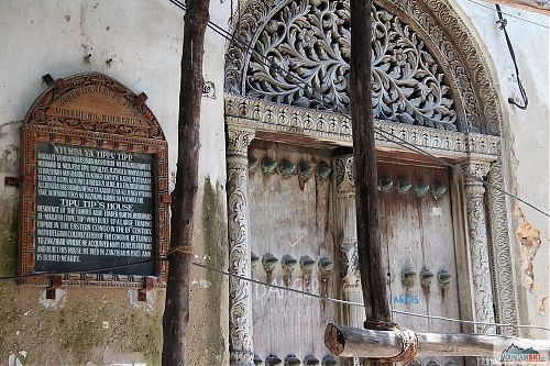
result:
[[[550,341],[505,335],[416,333],[416,336],[418,337],[416,357],[498,357],[513,344],[524,350],[532,347],[547,361],[548,352],[550,352]],[[400,337],[396,332],[334,324],[327,325],[324,345],[332,354],[342,357],[387,358],[395,357],[403,351]]]

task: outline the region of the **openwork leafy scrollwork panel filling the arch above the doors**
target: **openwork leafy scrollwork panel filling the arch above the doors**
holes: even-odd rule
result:
[[[349,7],[300,0],[278,11],[255,44],[246,95],[350,113]],[[424,42],[386,10],[373,7],[372,14],[374,118],[457,131],[453,97]]]

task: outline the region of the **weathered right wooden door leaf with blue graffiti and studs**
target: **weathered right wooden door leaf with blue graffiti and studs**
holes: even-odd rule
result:
[[[395,158],[380,160],[382,243],[391,307],[460,319],[449,169]],[[416,332],[461,331],[457,322],[399,313],[393,317],[394,322]],[[452,365],[462,364],[462,359],[427,357],[420,363]]]

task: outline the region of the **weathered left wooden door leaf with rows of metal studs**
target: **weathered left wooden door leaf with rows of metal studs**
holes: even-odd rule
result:
[[[249,156],[253,278],[336,297],[330,153],[254,141]],[[333,303],[254,284],[252,306],[254,353],[264,365],[327,364]]]

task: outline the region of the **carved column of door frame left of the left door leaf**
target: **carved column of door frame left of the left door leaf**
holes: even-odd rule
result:
[[[248,148],[253,138],[254,131],[228,125],[229,273],[246,278],[251,277]],[[229,334],[231,366],[254,366],[252,286],[234,277],[229,279]]]

